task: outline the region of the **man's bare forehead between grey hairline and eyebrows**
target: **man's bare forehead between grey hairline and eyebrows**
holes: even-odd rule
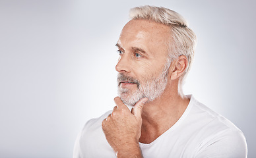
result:
[[[152,20],[130,20],[117,42],[124,49],[143,47],[148,51],[166,51],[171,40],[171,28]]]

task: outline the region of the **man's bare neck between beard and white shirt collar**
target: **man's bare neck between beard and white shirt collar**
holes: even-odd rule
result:
[[[168,84],[160,97],[143,107],[140,142],[149,144],[166,132],[183,115],[188,104],[189,98],[179,93],[178,86]]]

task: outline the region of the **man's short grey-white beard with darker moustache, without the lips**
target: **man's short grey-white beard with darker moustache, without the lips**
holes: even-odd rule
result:
[[[123,103],[134,106],[139,100],[143,99],[143,97],[147,97],[148,101],[154,101],[154,99],[159,97],[166,89],[169,66],[170,63],[167,62],[159,76],[144,77],[141,81],[119,73],[117,76],[118,95]],[[121,88],[120,84],[123,81],[137,84],[137,90]]]

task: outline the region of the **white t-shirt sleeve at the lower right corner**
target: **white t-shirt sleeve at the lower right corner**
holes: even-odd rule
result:
[[[228,130],[216,134],[201,145],[195,158],[243,158],[247,157],[247,144],[243,133]]]

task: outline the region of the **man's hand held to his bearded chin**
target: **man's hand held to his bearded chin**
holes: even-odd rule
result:
[[[131,152],[139,149],[139,138],[141,137],[141,113],[144,103],[148,100],[143,98],[135,104],[132,113],[121,101],[120,97],[115,97],[116,106],[112,114],[102,121],[102,130],[112,146],[115,153]],[[139,149],[139,153],[141,151]],[[131,155],[130,155],[131,156]]]

